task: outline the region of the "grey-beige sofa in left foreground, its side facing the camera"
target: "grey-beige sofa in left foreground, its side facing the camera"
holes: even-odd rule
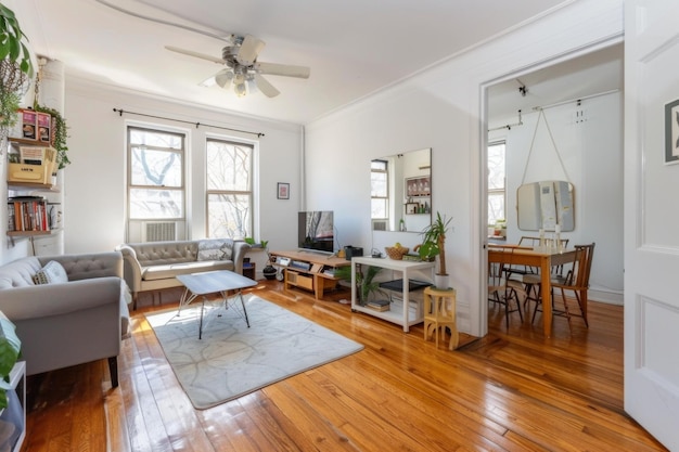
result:
[[[54,267],[59,277],[36,284],[34,276]],[[0,311],[16,325],[27,375],[106,358],[118,386],[130,301],[120,253],[30,256],[0,266]]]

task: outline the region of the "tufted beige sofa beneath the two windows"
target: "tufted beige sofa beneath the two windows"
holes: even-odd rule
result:
[[[128,243],[118,250],[125,261],[125,281],[132,290],[132,309],[139,293],[179,287],[179,274],[213,270],[243,273],[249,245],[231,238]]]

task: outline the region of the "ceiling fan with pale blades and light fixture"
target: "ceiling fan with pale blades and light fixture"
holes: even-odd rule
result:
[[[266,43],[252,35],[231,35],[228,42],[229,46],[221,50],[221,57],[210,56],[172,46],[165,46],[165,48],[172,52],[226,65],[226,68],[215,74],[214,80],[225,89],[229,89],[229,87],[233,85],[233,90],[239,96],[247,94],[253,85],[268,98],[279,95],[281,92],[264,78],[262,74],[309,78],[310,69],[305,66],[258,62],[257,56]]]

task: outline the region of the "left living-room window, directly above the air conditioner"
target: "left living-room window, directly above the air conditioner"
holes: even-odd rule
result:
[[[127,133],[129,220],[183,220],[185,137],[138,127]]]

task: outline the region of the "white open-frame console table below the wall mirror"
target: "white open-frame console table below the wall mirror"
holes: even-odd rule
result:
[[[366,306],[359,305],[356,299],[356,264],[381,267],[383,269],[394,270],[401,273],[403,280],[402,288],[402,306],[400,312],[398,309],[390,309],[388,311],[376,311]],[[410,312],[410,277],[412,272],[418,270],[430,270],[432,273],[432,281],[434,281],[434,262],[418,262],[412,260],[394,260],[382,259],[373,257],[355,257],[351,259],[351,310],[358,312],[364,312],[370,315],[396,323],[403,326],[403,332],[408,333],[410,326],[418,324],[424,320],[421,310],[418,314],[418,310]],[[398,306],[395,306],[398,308]]]

